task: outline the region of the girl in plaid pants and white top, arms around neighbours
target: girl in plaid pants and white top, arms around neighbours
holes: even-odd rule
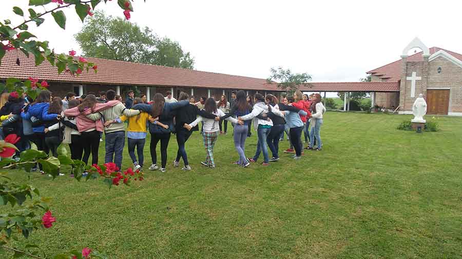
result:
[[[218,117],[225,116],[225,114],[217,109],[217,103],[215,102],[214,98],[208,98],[205,101],[204,110],[206,112],[215,114]],[[243,121],[238,121],[233,117],[228,117],[226,120],[232,123],[239,123],[243,124]],[[201,162],[201,164],[208,166],[210,168],[215,168],[215,161],[214,161],[214,146],[215,142],[217,142],[218,134],[220,132],[219,121],[214,119],[206,119],[202,116],[199,116],[195,121],[184,124],[184,127],[188,130],[191,130],[192,127],[195,127],[200,121],[204,121],[204,130],[202,133],[202,137],[204,140],[205,151],[207,153],[207,157],[205,161]]]

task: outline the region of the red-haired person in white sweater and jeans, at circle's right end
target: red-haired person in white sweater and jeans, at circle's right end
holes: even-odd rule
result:
[[[321,95],[315,94],[312,99],[311,108],[313,111],[311,112],[311,132],[310,132],[310,145],[308,149],[312,150],[321,150],[322,142],[321,142],[321,125],[322,125],[322,115],[325,113],[325,107],[322,105],[321,102]],[[314,149],[314,140],[316,138],[317,147]]]

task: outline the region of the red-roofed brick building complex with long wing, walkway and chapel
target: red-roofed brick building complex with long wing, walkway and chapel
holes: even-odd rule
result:
[[[421,52],[408,56],[413,48]],[[20,65],[17,64],[17,59]],[[255,93],[283,93],[275,82],[266,79],[235,76],[196,70],[153,66],[100,58],[87,58],[98,64],[98,73],[91,70],[80,76],[69,73],[59,75],[55,67],[43,62],[37,69],[34,59],[27,58],[21,51],[8,51],[0,66],[0,80],[8,77],[28,77],[47,80],[55,96],[68,92],[82,95],[115,90],[125,98],[125,92],[133,86],[152,99],[155,93],[165,95],[171,91],[178,97],[184,91],[197,99],[201,96],[228,98],[232,91],[244,90],[248,95]],[[415,38],[402,52],[401,59],[367,72],[371,82],[310,82],[299,90],[309,92],[370,92],[372,104],[398,110],[401,114],[412,113],[412,104],[419,94],[427,99],[428,114],[462,116],[462,55],[441,48],[427,48]],[[347,111],[348,94],[344,107]]]

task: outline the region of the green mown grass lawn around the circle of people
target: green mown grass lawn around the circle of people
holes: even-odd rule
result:
[[[29,182],[52,198],[57,222],[30,241],[127,259],[462,258],[462,118],[440,117],[441,131],[422,134],[396,130],[405,119],[328,112],[321,152],[245,169],[232,164],[231,134],[218,139],[217,168],[201,167],[198,133],[186,146],[193,170],[173,168],[173,137],[167,172],[145,170],[145,181],[110,190],[34,173]],[[254,134],[247,156],[255,143]],[[148,145],[145,157],[147,168]]]

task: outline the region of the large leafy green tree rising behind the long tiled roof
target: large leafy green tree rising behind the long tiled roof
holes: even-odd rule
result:
[[[174,68],[194,68],[194,58],[180,44],[158,38],[148,27],[140,28],[120,17],[96,12],[75,34],[85,56]]]

